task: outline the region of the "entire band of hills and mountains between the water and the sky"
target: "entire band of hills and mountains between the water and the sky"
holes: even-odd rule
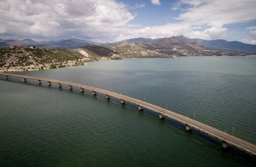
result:
[[[60,40],[57,42],[35,42],[32,39],[1,41],[13,45],[13,47],[0,49],[0,71],[3,72],[76,66],[83,65],[85,62],[102,59],[135,57],[178,58],[179,56],[246,56],[248,55],[249,49],[251,49],[250,51],[252,51],[252,53],[256,53],[255,50],[253,50],[256,45],[251,46],[236,42],[234,46],[236,46],[237,50],[233,51],[233,43],[228,43],[227,41],[221,40],[226,45],[218,45],[216,41],[189,39],[184,36],[172,36],[161,39],[133,38],[107,46],[79,39]],[[238,44],[240,45],[237,46]],[[19,45],[33,47],[17,47]],[[81,45],[82,47],[79,47]],[[43,48],[43,46],[55,49],[45,49],[47,47]],[[75,49],[66,49],[70,47],[74,47]],[[225,49],[225,47],[228,48],[227,51],[222,50]],[[247,47],[248,50],[243,50],[241,49],[242,47]],[[214,48],[220,49],[217,50]],[[247,53],[244,53],[245,51],[247,51]]]

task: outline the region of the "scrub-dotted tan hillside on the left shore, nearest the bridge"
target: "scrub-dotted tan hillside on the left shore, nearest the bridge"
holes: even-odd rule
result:
[[[0,49],[0,71],[5,72],[77,66],[92,60],[79,52],[66,49]]]

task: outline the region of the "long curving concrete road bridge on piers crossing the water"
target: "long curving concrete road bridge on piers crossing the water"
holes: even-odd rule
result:
[[[224,148],[228,146],[234,146],[240,150],[243,150],[251,155],[256,156],[256,145],[253,143],[250,143],[248,141],[245,141],[243,139],[237,138],[233,135],[230,135],[226,132],[223,132],[221,130],[218,130],[214,127],[211,127],[209,125],[206,125],[202,122],[196,121],[194,119],[188,118],[187,116],[178,114],[176,112],[161,108],[159,106],[147,103],[145,101],[135,99],[126,95],[118,94],[112,91],[100,89],[93,86],[87,86],[83,84],[78,83],[70,83],[65,81],[59,81],[59,80],[52,80],[52,79],[46,79],[46,78],[38,78],[38,77],[31,77],[31,76],[23,76],[23,75],[16,75],[16,74],[9,74],[9,73],[0,73],[0,75],[3,75],[5,79],[9,79],[9,77],[18,77],[23,79],[24,82],[27,82],[28,79],[30,80],[36,80],[38,84],[41,84],[41,82],[46,82],[48,85],[51,85],[51,83],[57,83],[59,87],[62,87],[62,85],[68,85],[69,89],[72,89],[73,87],[80,88],[80,91],[83,92],[85,89],[92,91],[93,95],[96,95],[97,93],[103,94],[106,96],[106,99],[110,99],[110,97],[120,99],[121,104],[125,104],[126,102],[137,105],[138,110],[148,109],[150,111],[156,112],[159,114],[159,118],[168,117],[175,121],[181,122],[186,125],[186,130],[190,131],[192,129],[196,129],[204,134],[207,134],[213,138],[219,139],[222,141],[222,146]]]

